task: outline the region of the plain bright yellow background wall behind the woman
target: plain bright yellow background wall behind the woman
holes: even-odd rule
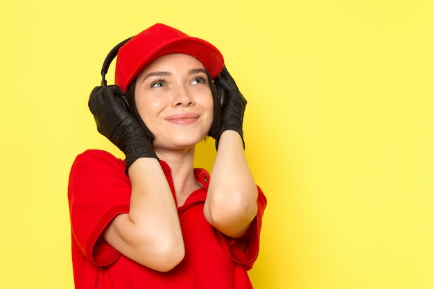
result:
[[[73,288],[69,168],[87,148],[121,156],[87,98],[108,51],[156,22],[215,44],[248,98],[268,197],[256,289],[434,288],[433,15],[430,0],[2,0],[0,288]],[[200,145],[198,166],[213,155]]]

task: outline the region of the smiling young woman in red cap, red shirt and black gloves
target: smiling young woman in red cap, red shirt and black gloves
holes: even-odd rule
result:
[[[221,53],[155,24],[121,46],[115,83],[95,87],[89,108],[125,160],[87,150],[69,178],[76,288],[252,288],[266,198],[244,154],[247,102]],[[193,168],[207,136],[211,176]]]

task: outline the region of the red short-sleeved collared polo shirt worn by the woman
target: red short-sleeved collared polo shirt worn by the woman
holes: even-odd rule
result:
[[[160,164],[175,198],[171,169],[164,161]],[[130,208],[131,184],[125,161],[102,150],[78,155],[68,187],[76,288],[252,288],[247,271],[259,252],[265,196],[258,187],[257,217],[245,238],[228,238],[203,215],[209,174],[202,168],[195,168],[194,173],[203,189],[191,193],[177,209],[185,257],[173,270],[158,272],[123,256],[101,237],[110,221]]]

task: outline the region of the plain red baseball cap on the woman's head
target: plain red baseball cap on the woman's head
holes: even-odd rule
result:
[[[209,42],[164,24],[155,24],[132,37],[119,49],[114,83],[126,91],[150,62],[171,53],[184,53],[197,58],[211,78],[216,78],[225,64],[223,55]]]

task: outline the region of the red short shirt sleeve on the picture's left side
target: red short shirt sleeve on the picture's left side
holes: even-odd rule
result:
[[[86,150],[76,157],[68,188],[72,238],[94,265],[109,265],[119,258],[100,237],[114,217],[128,213],[130,195],[124,161],[103,150]]]

